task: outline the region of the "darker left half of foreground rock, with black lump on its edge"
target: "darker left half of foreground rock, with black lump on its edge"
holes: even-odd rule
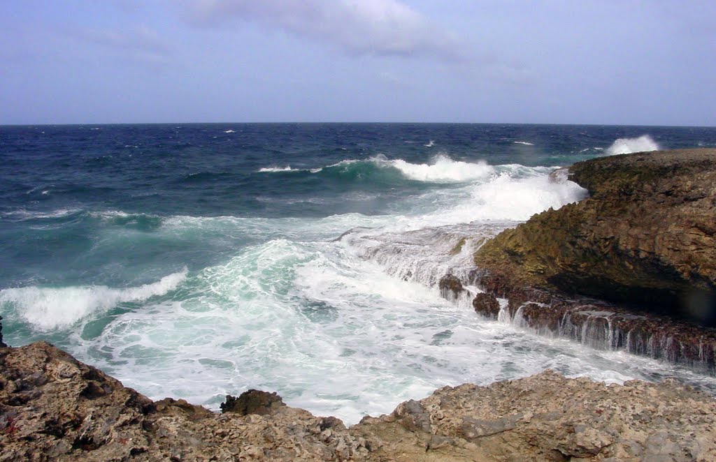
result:
[[[0,372],[0,461],[324,461],[369,453],[339,420],[302,409],[268,403],[271,412],[242,416],[185,400],[153,403],[48,343],[1,348]]]

